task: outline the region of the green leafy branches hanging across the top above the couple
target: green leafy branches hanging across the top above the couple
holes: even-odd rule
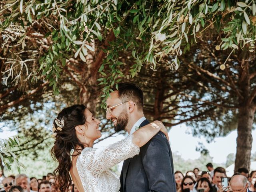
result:
[[[246,39],[254,40],[256,31],[254,1],[47,0],[19,3],[10,0],[4,3],[0,14],[4,14],[1,34],[13,30],[13,25],[21,28],[16,39],[4,38],[4,44],[20,44],[20,49],[25,50],[29,27],[42,20],[48,23],[43,36],[50,38],[50,43],[45,54],[39,54],[38,72],[49,80],[54,94],[59,93],[57,80],[66,60],[79,56],[86,62],[88,53],[94,52],[94,42],[106,39],[112,30],[116,40],[106,48],[107,57],[103,63],[106,67],[100,70],[103,77],[99,81],[105,86],[102,98],[108,96],[111,87],[123,76],[124,64],[119,60],[121,50],[129,51],[128,58],[134,60],[130,69],[134,77],[142,64],[149,63],[154,70],[166,55],[174,57],[170,68],[178,69],[178,57],[189,50],[206,29],[216,28],[217,32],[225,34],[218,46],[223,50],[232,48],[230,54],[236,49],[242,50]],[[20,65],[28,62],[22,57],[2,59]]]

